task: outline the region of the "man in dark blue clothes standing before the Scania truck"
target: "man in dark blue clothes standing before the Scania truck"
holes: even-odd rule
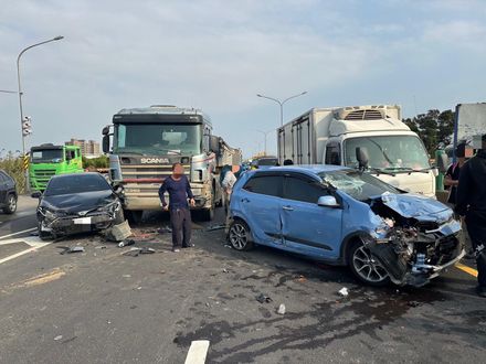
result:
[[[169,204],[166,202],[165,193],[169,193]],[[162,208],[170,212],[170,225],[172,228],[172,251],[192,247],[191,244],[191,212],[189,204],[196,205],[194,195],[188,178],[184,175],[184,168],[181,163],[172,164],[172,175],[168,176],[159,189],[159,197]]]

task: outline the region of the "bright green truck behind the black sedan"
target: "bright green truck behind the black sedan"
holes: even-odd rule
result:
[[[44,192],[51,176],[83,172],[81,149],[77,146],[52,143],[32,147],[29,163],[29,181],[32,191]]]

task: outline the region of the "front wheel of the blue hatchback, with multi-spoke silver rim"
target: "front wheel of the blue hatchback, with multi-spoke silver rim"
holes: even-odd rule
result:
[[[352,274],[363,283],[374,287],[390,283],[387,270],[373,259],[370,250],[360,239],[352,242],[348,249],[347,261]]]

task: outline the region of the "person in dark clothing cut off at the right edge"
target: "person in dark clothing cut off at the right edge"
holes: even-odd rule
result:
[[[477,264],[477,293],[486,298],[486,135],[482,149],[461,169],[456,212],[466,216]]]

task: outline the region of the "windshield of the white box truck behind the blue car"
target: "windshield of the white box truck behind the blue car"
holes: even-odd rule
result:
[[[345,141],[345,165],[358,168],[356,148],[368,152],[371,169],[400,171],[426,170],[429,154],[422,141],[415,136],[359,137]]]

